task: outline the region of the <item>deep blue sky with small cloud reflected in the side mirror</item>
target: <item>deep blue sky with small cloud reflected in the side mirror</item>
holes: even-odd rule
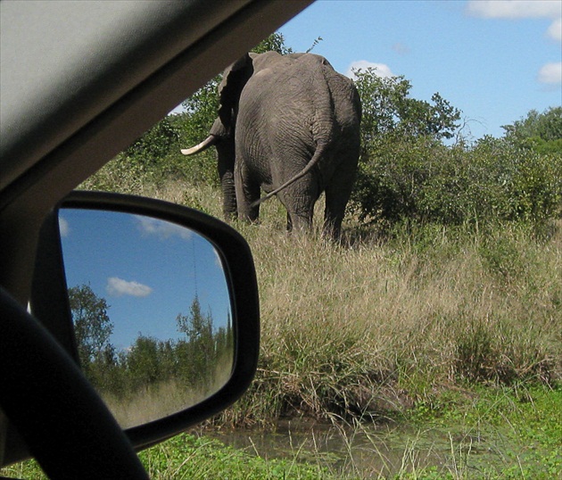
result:
[[[176,318],[197,295],[216,329],[227,326],[230,301],[211,243],[176,224],[130,213],[62,209],[62,254],[70,287],[88,285],[109,305],[119,351],[140,335],[177,339]]]

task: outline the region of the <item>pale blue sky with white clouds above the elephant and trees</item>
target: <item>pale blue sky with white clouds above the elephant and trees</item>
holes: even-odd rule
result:
[[[317,0],[279,31],[285,45],[324,55],[335,70],[378,66],[411,95],[435,92],[462,111],[469,137],[562,104],[559,0]]]

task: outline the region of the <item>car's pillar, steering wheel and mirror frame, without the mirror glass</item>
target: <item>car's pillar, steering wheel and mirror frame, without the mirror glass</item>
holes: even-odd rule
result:
[[[200,211],[73,190],[311,3],[0,2],[0,467],[35,458],[51,478],[146,478],[136,451],[244,393],[260,335],[244,238]],[[65,209],[145,216],[211,244],[234,332],[224,385],[161,418],[120,426],[79,368],[61,247]]]

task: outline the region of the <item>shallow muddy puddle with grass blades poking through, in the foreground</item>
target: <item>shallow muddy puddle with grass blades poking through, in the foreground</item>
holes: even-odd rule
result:
[[[236,430],[213,434],[222,443],[264,459],[291,459],[360,478],[394,476],[434,467],[471,477],[525,461],[525,446],[498,430],[450,432],[408,426],[341,427],[286,421],[275,431]],[[509,452],[509,455],[507,454]],[[513,454],[515,453],[515,458]]]

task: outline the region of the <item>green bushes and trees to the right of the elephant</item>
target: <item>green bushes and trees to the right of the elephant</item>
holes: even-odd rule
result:
[[[356,76],[362,153],[351,210],[361,221],[538,224],[560,214],[562,107],[529,112],[502,139],[445,146],[460,112],[441,95],[430,104],[410,98],[403,77]]]

